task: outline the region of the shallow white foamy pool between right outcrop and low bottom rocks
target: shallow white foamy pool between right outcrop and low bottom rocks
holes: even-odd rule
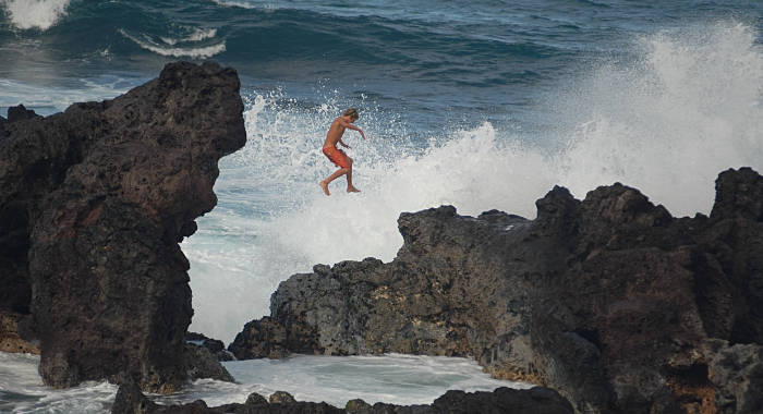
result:
[[[223,363],[238,383],[199,380],[160,403],[204,399],[207,405],[243,402],[252,392],[287,391],[300,401],[343,407],[349,400],[400,405],[431,404],[447,390],[493,391],[530,385],[491,378],[470,358],[390,354],[384,356],[306,356]]]

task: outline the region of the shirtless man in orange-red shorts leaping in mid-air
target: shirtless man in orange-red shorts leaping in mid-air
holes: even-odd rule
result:
[[[348,157],[343,150],[337,148],[337,143],[341,144],[344,148],[351,148],[349,145],[342,142],[342,135],[346,129],[355,130],[361,133],[363,139],[365,139],[365,134],[363,130],[353,125],[352,123],[358,121],[360,115],[358,114],[358,109],[350,108],[342,113],[341,117],[337,118],[331,122],[331,127],[328,129],[328,134],[326,134],[326,142],[324,142],[324,155],[328,157],[339,169],[335,171],[331,175],[326,178],[326,180],[320,182],[320,187],[324,188],[326,195],[330,195],[328,192],[328,184],[331,181],[347,174],[347,192],[348,193],[360,193],[360,190],[352,185],[352,158]]]

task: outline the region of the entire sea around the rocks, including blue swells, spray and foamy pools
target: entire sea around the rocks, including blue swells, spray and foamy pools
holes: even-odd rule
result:
[[[175,60],[237,69],[246,146],[220,161],[218,206],[182,243],[190,330],[229,343],[315,264],[402,245],[397,218],[453,205],[535,217],[554,185],[640,188],[674,216],[707,214],[728,168],[763,171],[760,0],[0,0],[0,113],[52,114],[156,77]],[[320,147],[348,107],[353,181],[324,195]],[[0,354],[0,411],[105,413],[116,387],[53,391],[36,357]],[[287,390],[429,403],[447,389],[523,387],[470,360],[295,356],[227,363],[162,402]]]

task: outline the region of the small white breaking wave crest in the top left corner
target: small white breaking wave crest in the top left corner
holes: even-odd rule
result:
[[[21,29],[47,31],[66,15],[70,0],[1,0],[14,26]]]

